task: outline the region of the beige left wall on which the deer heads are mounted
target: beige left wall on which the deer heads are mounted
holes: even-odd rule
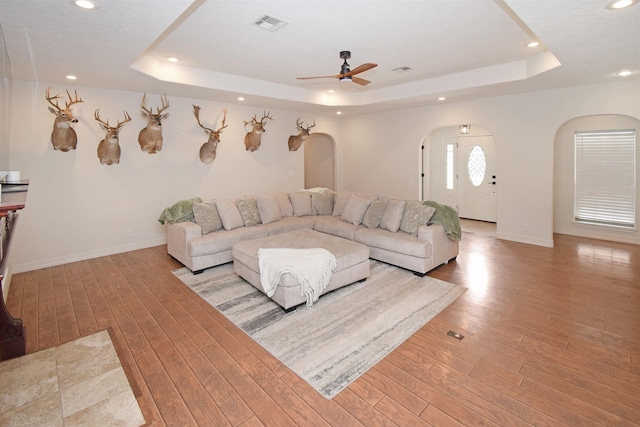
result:
[[[79,259],[163,244],[162,210],[178,200],[242,197],[270,191],[293,191],[304,185],[303,151],[290,152],[287,140],[296,132],[298,112],[271,110],[258,151],[245,151],[243,120],[262,108],[222,105],[215,101],[169,97],[169,118],[163,122],[164,148],[158,154],[140,150],[138,132],[146,125],[139,112],[141,93],[67,86],[85,102],[73,106],[78,148],[54,151],[50,143],[53,114],[47,109],[47,84],[13,81],[10,129],[12,170],[31,180],[27,207],[13,247],[14,271],[26,271]],[[52,92],[65,87],[53,85]],[[73,93],[73,92],[72,92]],[[150,106],[158,94],[148,94]],[[203,164],[198,152],[207,135],[197,125],[213,124],[228,108],[217,158]],[[127,110],[132,121],[120,131],[120,164],[101,165],[96,154],[104,131],[93,119],[100,108],[114,123]],[[318,132],[333,134],[337,119],[314,117]],[[304,120],[312,118],[305,117]],[[219,121],[218,121],[219,123]],[[134,231],[129,238],[128,231]]]

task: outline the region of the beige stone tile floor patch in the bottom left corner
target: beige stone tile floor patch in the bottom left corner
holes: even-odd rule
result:
[[[0,363],[0,426],[145,424],[109,333]]]

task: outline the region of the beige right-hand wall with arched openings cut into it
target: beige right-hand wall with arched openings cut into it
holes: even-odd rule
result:
[[[339,144],[344,165],[339,169],[339,184],[357,191],[419,198],[423,139],[445,126],[477,124],[490,130],[496,143],[498,237],[552,246],[556,132],[572,118],[594,114],[640,118],[640,80],[355,117],[342,134],[348,143]]]

